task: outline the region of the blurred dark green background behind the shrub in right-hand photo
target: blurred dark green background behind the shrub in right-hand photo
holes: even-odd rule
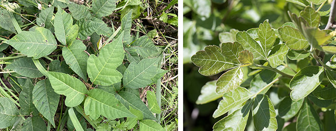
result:
[[[216,119],[212,117],[220,99],[204,105],[196,105],[202,86],[208,81],[218,79],[225,72],[210,77],[202,76],[198,72],[199,68],[191,63],[190,57],[197,51],[204,50],[207,45],[218,46],[221,41],[227,41],[227,37],[222,37],[222,34],[229,32],[230,29],[243,31],[258,27],[266,19],[269,19],[273,28],[278,28],[285,22],[291,21],[287,11],[299,14],[303,9],[303,6],[286,0],[183,0],[184,130],[211,131],[214,123],[226,116],[225,114]],[[330,4],[324,5],[320,14],[329,9]],[[321,14],[321,25],[326,25],[328,16],[328,13]],[[320,26],[320,28],[324,27]],[[249,86],[249,81],[250,79],[247,79],[242,86]],[[276,95],[278,94],[277,88],[271,88],[266,94],[270,96],[273,103],[279,102],[278,95]],[[325,126],[325,131],[335,131],[333,126],[335,124],[329,123],[334,122],[332,115],[334,112],[328,110],[321,112],[320,109],[317,112],[320,112],[320,117],[324,118],[322,120],[324,125],[332,125]],[[254,131],[253,122],[250,119],[245,130]]]

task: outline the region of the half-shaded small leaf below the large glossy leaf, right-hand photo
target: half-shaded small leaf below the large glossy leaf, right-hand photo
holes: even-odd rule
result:
[[[279,104],[278,113],[282,119],[294,117],[304,103],[304,99],[293,101],[289,96],[286,96]]]

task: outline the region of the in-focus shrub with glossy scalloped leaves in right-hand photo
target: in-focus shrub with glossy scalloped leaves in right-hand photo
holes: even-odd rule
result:
[[[292,22],[275,28],[265,20],[258,28],[230,29],[219,34],[219,46],[206,46],[191,57],[201,75],[216,79],[202,87],[196,104],[222,96],[213,117],[224,118],[214,131],[250,131],[251,126],[256,131],[324,131],[335,125],[319,117],[326,109],[335,112],[336,102],[336,33],[329,26],[322,29],[320,13],[327,0],[286,1],[304,6],[288,12]],[[285,122],[290,126],[283,129]]]

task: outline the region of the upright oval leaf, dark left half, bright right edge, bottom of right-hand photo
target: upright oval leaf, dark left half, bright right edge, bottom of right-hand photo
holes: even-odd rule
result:
[[[267,95],[259,94],[253,104],[253,124],[257,131],[275,131],[275,109]]]

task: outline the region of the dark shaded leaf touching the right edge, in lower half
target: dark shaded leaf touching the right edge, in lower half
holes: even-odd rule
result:
[[[334,99],[336,98],[336,88],[334,88],[332,84],[328,84],[327,86],[320,84],[313,91],[313,94],[319,99],[324,100]]]

